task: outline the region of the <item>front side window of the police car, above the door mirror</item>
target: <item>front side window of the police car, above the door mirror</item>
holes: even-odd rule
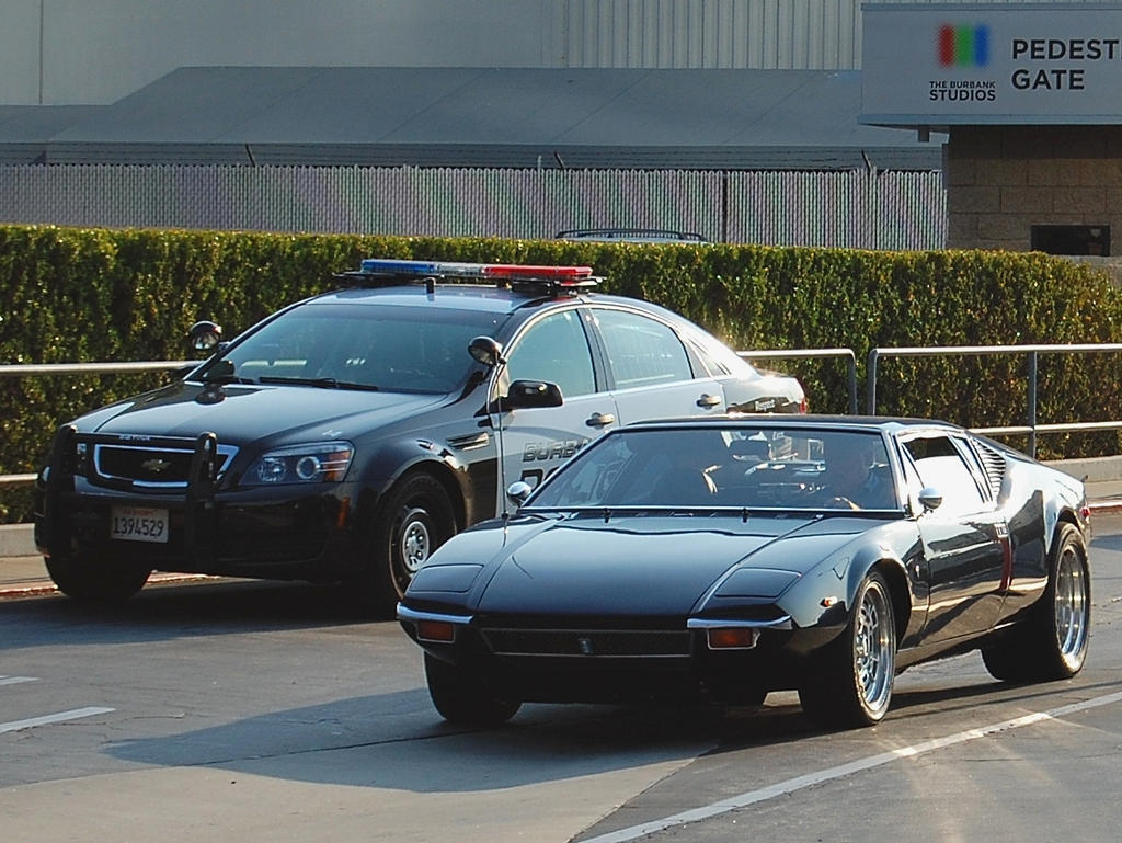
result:
[[[596,392],[592,354],[576,310],[551,313],[534,322],[507,356],[509,381],[549,381],[567,398]]]

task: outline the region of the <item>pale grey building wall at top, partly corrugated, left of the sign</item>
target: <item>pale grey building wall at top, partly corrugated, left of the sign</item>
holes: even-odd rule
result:
[[[861,6],[862,0],[3,0],[0,103],[109,104],[187,66],[856,70]]]

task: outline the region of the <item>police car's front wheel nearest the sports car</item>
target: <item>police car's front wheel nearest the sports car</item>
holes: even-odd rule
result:
[[[454,532],[452,502],[440,480],[427,474],[403,478],[375,519],[359,577],[364,608],[393,616],[417,568]]]

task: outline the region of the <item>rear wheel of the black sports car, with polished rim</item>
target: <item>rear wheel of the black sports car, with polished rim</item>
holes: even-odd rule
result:
[[[1048,566],[1048,587],[1032,611],[1001,640],[982,648],[994,679],[1043,682],[1083,669],[1091,634],[1091,569],[1079,531],[1063,523]]]

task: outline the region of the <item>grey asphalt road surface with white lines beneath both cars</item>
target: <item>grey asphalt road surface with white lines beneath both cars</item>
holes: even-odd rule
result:
[[[1095,516],[1091,657],[1009,687],[905,672],[875,729],[758,709],[525,706],[444,725],[420,654],[335,588],[0,601],[0,828],[21,841],[1116,843],[1122,515]]]

